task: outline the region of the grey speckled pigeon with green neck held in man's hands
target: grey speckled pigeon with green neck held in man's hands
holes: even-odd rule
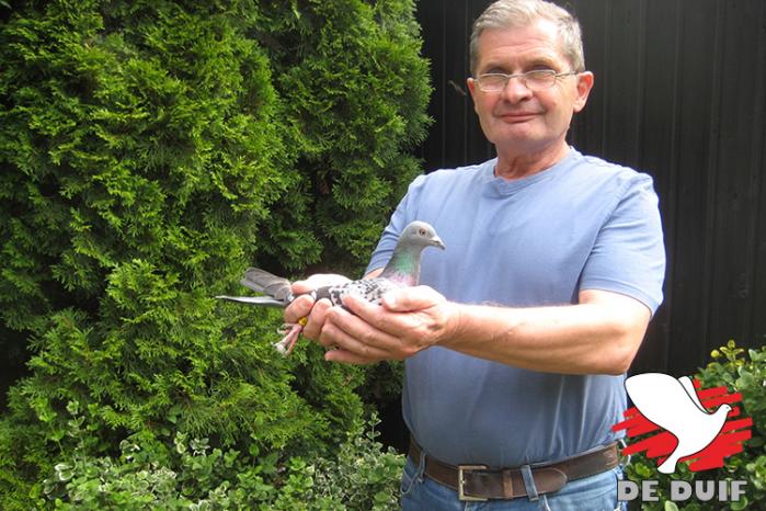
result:
[[[442,250],[446,248],[431,225],[425,222],[412,222],[402,230],[393,249],[393,254],[379,276],[323,286],[307,294],[315,302],[329,298],[332,305],[336,306],[343,306],[343,298],[348,295],[362,296],[368,302],[380,305],[380,299],[387,292],[418,285],[421,253],[426,247],[437,247]],[[265,296],[216,296],[216,298],[284,308],[300,296],[293,294],[291,284],[287,279],[276,276],[260,268],[248,269],[240,283],[256,293],[263,293]],[[282,354],[289,354],[307,321],[307,318],[301,318],[298,323],[284,325],[283,332],[286,331],[286,334],[274,344],[274,348]]]

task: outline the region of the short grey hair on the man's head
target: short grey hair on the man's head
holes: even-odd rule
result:
[[[582,31],[574,15],[545,0],[498,0],[473,22],[470,43],[471,73],[476,72],[476,66],[479,63],[479,36],[483,31],[526,27],[538,20],[556,23],[559,29],[561,52],[572,66],[572,70],[584,71]]]

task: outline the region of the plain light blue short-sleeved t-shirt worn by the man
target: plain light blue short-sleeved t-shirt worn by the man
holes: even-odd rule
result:
[[[652,179],[570,149],[528,178],[494,177],[496,160],[415,179],[367,271],[381,268],[412,220],[447,250],[425,250],[421,284],[464,304],[576,304],[581,289],[631,296],[654,313],[665,257]],[[614,441],[625,375],[527,371],[435,347],[405,361],[404,420],[430,455],[453,465],[555,462]]]

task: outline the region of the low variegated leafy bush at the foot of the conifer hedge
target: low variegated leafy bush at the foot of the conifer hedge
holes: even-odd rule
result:
[[[404,458],[381,451],[375,417],[366,431],[348,432],[338,455],[279,465],[277,455],[263,455],[255,444],[247,453],[224,451],[181,433],[169,452],[137,434],[121,442],[118,458],[92,457],[84,418],[77,404],[68,410],[68,434],[78,446],[45,480],[45,496],[57,509],[335,511],[389,510],[397,503]]]

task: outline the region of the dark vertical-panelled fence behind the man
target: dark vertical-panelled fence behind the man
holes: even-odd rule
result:
[[[494,155],[467,95],[470,27],[489,1],[421,0],[435,123],[425,168]],[[559,2],[562,3],[563,2]],[[766,341],[766,1],[574,0],[596,76],[571,143],[648,172],[665,302],[634,372],[689,374],[734,339]]]

